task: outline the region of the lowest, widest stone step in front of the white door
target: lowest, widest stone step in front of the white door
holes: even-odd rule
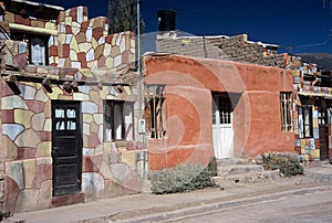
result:
[[[242,174],[229,174],[214,177],[216,183],[220,187],[229,183],[255,183],[267,180],[276,180],[279,178],[279,170],[273,171],[261,171],[255,173],[242,173]]]

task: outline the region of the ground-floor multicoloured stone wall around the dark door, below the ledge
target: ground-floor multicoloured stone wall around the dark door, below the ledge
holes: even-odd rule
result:
[[[40,67],[34,68],[38,75]],[[49,76],[55,71],[63,72],[50,68]],[[68,94],[55,84],[50,93],[40,81],[20,81],[18,87],[21,93],[15,95],[8,83],[1,81],[7,211],[23,212],[52,205],[51,102],[58,99],[82,102],[82,192],[85,199],[142,190],[144,151],[127,150],[126,142],[104,142],[103,139],[103,99],[128,98],[132,95],[129,86],[121,94],[114,94],[114,86],[100,89],[96,85],[79,86],[77,93]]]

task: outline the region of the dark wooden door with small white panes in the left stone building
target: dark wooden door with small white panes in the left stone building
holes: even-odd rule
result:
[[[53,195],[81,191],[82,130],[81,104],[52,102]]]

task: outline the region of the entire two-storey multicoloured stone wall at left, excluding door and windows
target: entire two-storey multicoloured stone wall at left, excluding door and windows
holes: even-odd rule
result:
[[[0,162],[0,201],[2,194],[4,201],[1,211],[13,213],[52,206],[51,102],[58,99],[81,102],[85,201],[142,190],[147,170],[142,145],[103,139],[103,100],[137,98],[137,87],[132,85],[136,74],[128,71],[135,62],[133,33],[107,35],[107,23],[105,18],[89,20],[85,7],[61,11],[58,20],[22,18],[4,9],[1,24],[7,31],[10,24],[19,24],[18,31],[28,29],[50,35],[50,66],[28,64],[29,43],[6,41],[4,60],[11,70],[7,74],[18,81],[10,83],[6,77],[0,81],[0,150],[4,156],[3,164]],[[51,79],[51,91],[42,85],[46,78]],[[77,91],[63,91],[64,81],[76,81]],[[116,91],[117,84],[123,84],[123,92]],[[137,103],[135,107],[139,107]],[[134,116],[137,123],[141,116],[135,112]]]

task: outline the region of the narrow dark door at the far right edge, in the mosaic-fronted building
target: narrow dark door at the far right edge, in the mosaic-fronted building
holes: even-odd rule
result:
[[[319,134],[320,134],[320,159],[329,159],[329,128],[328,128],[328,110],[321,108],[319,110]]]

